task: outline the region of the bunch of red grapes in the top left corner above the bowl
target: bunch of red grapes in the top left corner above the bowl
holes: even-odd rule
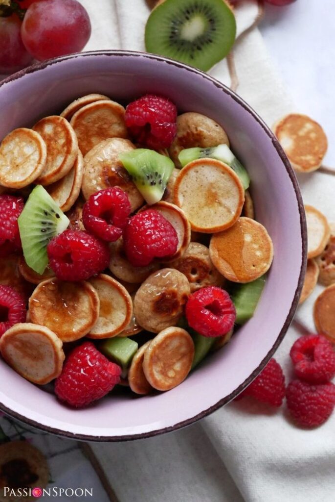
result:
[[[77,0],[0,0],[0,74],[81,51],[91,36]]]

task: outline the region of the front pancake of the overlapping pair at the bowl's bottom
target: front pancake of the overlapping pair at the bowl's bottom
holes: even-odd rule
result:
[[[194,343],[182,328],[169,327],[151,341],[144,353],[143,371],[158,391],[169,391],[185,380],[194,357]]]

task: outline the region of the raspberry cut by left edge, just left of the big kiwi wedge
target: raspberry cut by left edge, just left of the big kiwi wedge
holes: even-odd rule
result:
[[[22,249],[18,218],[24,205],[22,197],[0,195],[0,257]]]

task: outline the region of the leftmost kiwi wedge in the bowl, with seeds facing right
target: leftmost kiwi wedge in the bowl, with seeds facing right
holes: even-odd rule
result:
[[[43,186],[38,185],[30,194],[18,223],[26,263],[42,275],[48,265],[47,245],[67,228],[70,220]]]

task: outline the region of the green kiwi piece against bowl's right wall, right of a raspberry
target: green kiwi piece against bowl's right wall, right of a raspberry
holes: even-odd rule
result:
[[[244,324],[253,316],[265,281],[266,277],[264,275],[250,283],[236,284],[234,286],[231,299],[236,309],[236,324]]]

